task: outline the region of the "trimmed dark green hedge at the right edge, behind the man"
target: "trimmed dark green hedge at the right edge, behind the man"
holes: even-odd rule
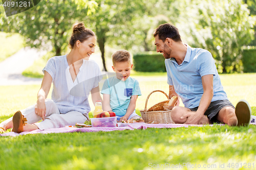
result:
[[[242,62],[244,72],[256,72],[256,47],[249,46],[243,50]]]

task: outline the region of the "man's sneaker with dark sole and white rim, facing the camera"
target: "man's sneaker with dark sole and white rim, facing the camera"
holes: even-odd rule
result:
[[[238,102],[236,106],[236,115],[238,118],[237,126],[248,126],[251,120],[251,107],[245,100]]]

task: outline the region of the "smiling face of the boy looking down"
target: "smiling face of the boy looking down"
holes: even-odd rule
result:
[[[130,64],[129,62],[116,62],[115,66],[112,66],[113,70],[116,72],[117,79],[122,81],[129,78],[132,67],[133,64]]]

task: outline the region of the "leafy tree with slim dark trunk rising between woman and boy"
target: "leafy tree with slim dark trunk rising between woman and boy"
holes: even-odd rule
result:
[[[152,47],[148,46],[151,41],[147,40],[147,35],[152,29],[154,16],[177,12],[170,10],[174,9],[171,6],[173,0],[96,0],[96,2],[99,5],[96,13],[87,16],[87,20],[88,25],[96,31],[104,70],[106,70],[104,59],[106,43],[126,50],[133,47],[137,51],[152,50]]]

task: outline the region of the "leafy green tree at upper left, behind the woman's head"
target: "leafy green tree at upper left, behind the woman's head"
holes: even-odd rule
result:
[[[95,12],[97,3],[89,0],[47,0],[34,8],[6,17],[1,8],[0,29],[20,33],[31,47],[51,43],[56,56],[66,52],[71,26]]]

